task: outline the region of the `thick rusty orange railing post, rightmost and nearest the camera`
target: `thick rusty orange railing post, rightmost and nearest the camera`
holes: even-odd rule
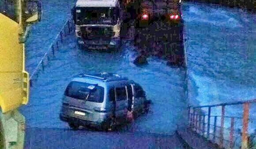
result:
[[[243,131],[242,131],[242,148],[248,149],[248,123],[249,123],[249,103],[243,104]]]

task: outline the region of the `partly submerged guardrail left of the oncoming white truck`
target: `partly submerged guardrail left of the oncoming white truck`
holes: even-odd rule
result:
[[[45,70],[45,66],[50,62],[50,58],[54,58],[56,51],[59,50],[61,43],[63,43],[64,37],[74,32],[74,25],[72,20],[67,20],[59,33],[56,35],[54,41],[45,52],[44,56],[38,63],[36,69],[30,75],[30,86],[32,86],[32,81],[38,78],[40,71]]]

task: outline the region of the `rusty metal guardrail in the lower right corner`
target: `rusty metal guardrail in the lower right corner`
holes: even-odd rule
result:
[[[202,135],[207,140],[211,141],[212,143],[217,143],[220,148],[228,148],[228,149],[255,149],[256,144],[251,146],[253,142],[249,133],[248,133],[248,126],[249,122],[252,121],[249,119],[249,110],[250,105],[255,104],[256,107],[256,99],[248,100],[248,101],[238,101],[238,102],[230,102],[230,103],[221,103],[216,105],[206,105],[206,106],[196,106],[196,107],[189,107],[188,110],[188,121],[189,127],[192,128],[196,133]],[[243,109],[243,116],[242,117],[235,117],[235,116],[225,116],[225,107],[231,105],[242,105]],[[214,107],[221,107],[221,115],[216,116],[212,115],[212,109]],[[207,112],[202,110],[202,108],[207,108]],[[207,114],[205,114],[207,113]],[[213,118],[213,124],[212,119]],[[218,120],[220,119],[220,126],[217,125]],[[229,119],[230,127],[224,127],[225,119]],[[242,132],[235,131],[235,120],[242,121]],[[217,129],[219,129],[219,135],[217,135]],[[224,133],[225,131],[229,131],[229,133]],[[238,133],[237,136],[241,137],[240,140],[235,138],[234,134]],[[256,133],[256,130],[255,132]],[[236,140],[235,140],[236,139]],[[227,143],[224,143],[227,142]],[[236,142],[239,142],[240,145],[237,145]],[[255,143],[255,142],[254,142]]]

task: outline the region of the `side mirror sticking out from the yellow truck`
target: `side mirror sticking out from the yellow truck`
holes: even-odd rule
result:
[[[28,24],[32,24],[41,21],[41,3],[37,0],[25,1],[24,6],[24,19]]]

